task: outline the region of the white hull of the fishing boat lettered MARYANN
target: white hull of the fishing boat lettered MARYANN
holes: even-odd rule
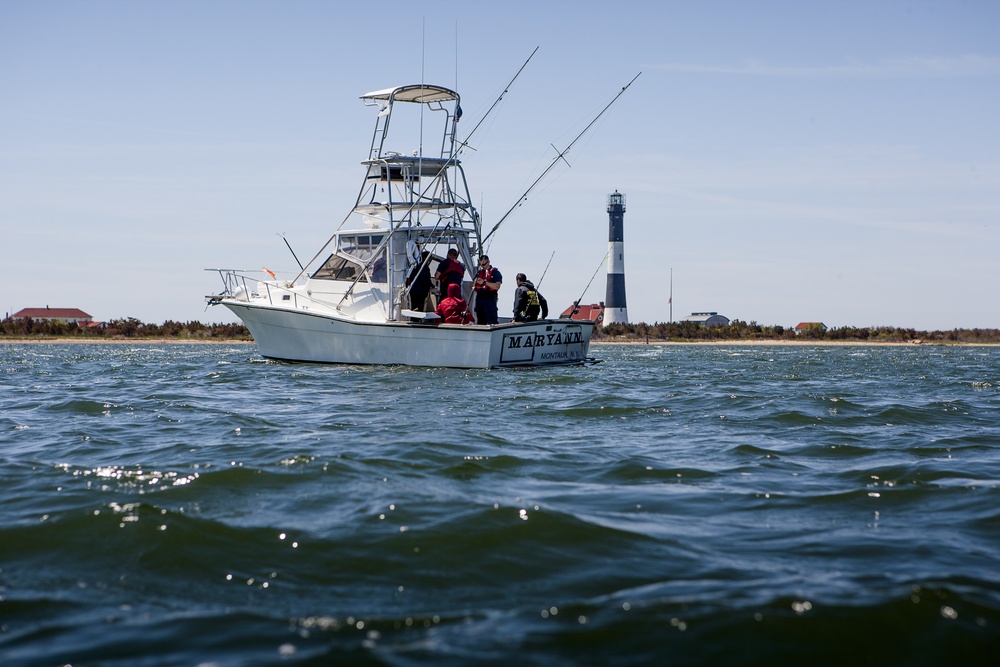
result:
[[[301,310],[222,302],[243,320],[261,355],[333,364],[502,368],[579,364],[594,324],[540,320],[493,326],[359,322]]]

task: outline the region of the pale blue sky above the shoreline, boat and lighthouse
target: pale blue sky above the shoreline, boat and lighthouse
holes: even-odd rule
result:
[[[206,269],[319,250],[362,94],[456,88],[461,135],[535,47],[463,157],[487,229],[641,75],[498,230],[502,311],[604,300],[619,191],[632,322],[1000,328],[995,0],[0,0],[0,311],[235,321]]]

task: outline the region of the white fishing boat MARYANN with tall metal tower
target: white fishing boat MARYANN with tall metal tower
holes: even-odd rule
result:
[[[360,193],[344,222],[294,279],[210,269],[219,271],[224,288],[208,303],[235,313],[272,359],[457,368],[587,361],[591,321],[443,324],[422,312],[425,304],[410,303],[410,271],[424,262],[433,275],[455,248],[473,307],[468,269],[477,266],[484,237],[459,160],[460,99],[454,90],[416,84],[361,100],[376,114],[375,130]],[[438,129],[428,133],[434,148],[424,154],[428,126]],[[400,138],[400,128],[408,137]],[[403,140],[417,149],[392,150],[406,146]],[[433,300],[432,294],[427,310],[434,310]]]

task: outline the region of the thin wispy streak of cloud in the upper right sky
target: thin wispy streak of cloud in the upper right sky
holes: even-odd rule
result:
[[[978,77],[1000,75],[1000,57],[995,56],[904,56],[877,62],[851,61],[843,65],[800,67],[772,65],[747,60],[739,65],[703,65],[697,63],[661,63],[652,69],[664,72],[695,74],[736,74],[789,78],[923,78]]]

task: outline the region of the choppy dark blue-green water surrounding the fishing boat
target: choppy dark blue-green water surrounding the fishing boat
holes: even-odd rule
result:
[[[1000,348],[0,345],[0,665],[995,665]]]

